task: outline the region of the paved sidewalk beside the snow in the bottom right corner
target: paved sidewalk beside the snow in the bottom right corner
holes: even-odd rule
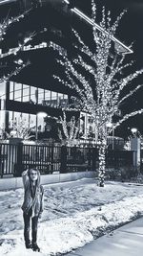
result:
[[[143,218],[140,218],[66,256],[140,256],[142,252]]]

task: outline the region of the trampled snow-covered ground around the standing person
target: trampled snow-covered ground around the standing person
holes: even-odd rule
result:
[[[48,256],[91,242],[113,227],[143,214],[143,186],[94,179],[47,185],[45,210],[39,221],[41,252],[26,249],[21,205],[23,189],[0,192],[0,255]]]

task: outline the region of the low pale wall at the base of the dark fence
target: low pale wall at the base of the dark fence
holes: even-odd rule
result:
[[[69,174],[56,174],[56,175],[41,175],[41,184],[52,184],[58,182],[73,181],[83,177],[92,178],[95,177],[95,172],[80,172],[80,173],[69,173]],[[22,188],[21,177],[9,177],[0,179],[0,191]]]

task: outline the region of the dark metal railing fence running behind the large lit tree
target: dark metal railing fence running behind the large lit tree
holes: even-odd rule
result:
[[[14,175],[36,167],[41,174],[95,171],[97,147],[66,147],[0,143],[0,176]],[[133,165],[133,151],[107,151],[107,167]]]

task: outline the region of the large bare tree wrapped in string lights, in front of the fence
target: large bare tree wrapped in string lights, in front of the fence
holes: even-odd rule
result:
[[[120,105],[142,86],[138,85],[135,89],[130,90],[131,81],[142,74],[143,70],[136,71],[128,76],[125,75],[124,70],[131,67],[133,61],[128,63],[125,59],[126,55],[120,55],[120,49],[115,50],[112,45],[112,36],[115,35],[123,14],[124,12],[121,12],[112,24],[111,12],[106,14],[103,7],[100,26],[104,32],[97,30],[94,25],[92,26],[93,47],[86,45],[79,34],[72,30],[77,42],[74,48],[75,52],[78,52],[78,57],[71,59],[59,52],[57,62],[63,67],[66,79],[53,75],[55,80],[76,91],[82,111],[85,110],[91,113],[95,122],[97,143],[100,145],[99,186],[104,186],[105,151],[108,134],[112,131],[112,128],[118,127],[128,118],[143,112],[143,109],[139,109],[126,114],[116,124],[113,122],[112,128],[107,128],[108,124],[112,122],[112,117],[118,112]],[[93,0],[92,21],[96,21],[96,6]],[[123,90],[127,86],[130,92],[126,96],[122,96]]]

